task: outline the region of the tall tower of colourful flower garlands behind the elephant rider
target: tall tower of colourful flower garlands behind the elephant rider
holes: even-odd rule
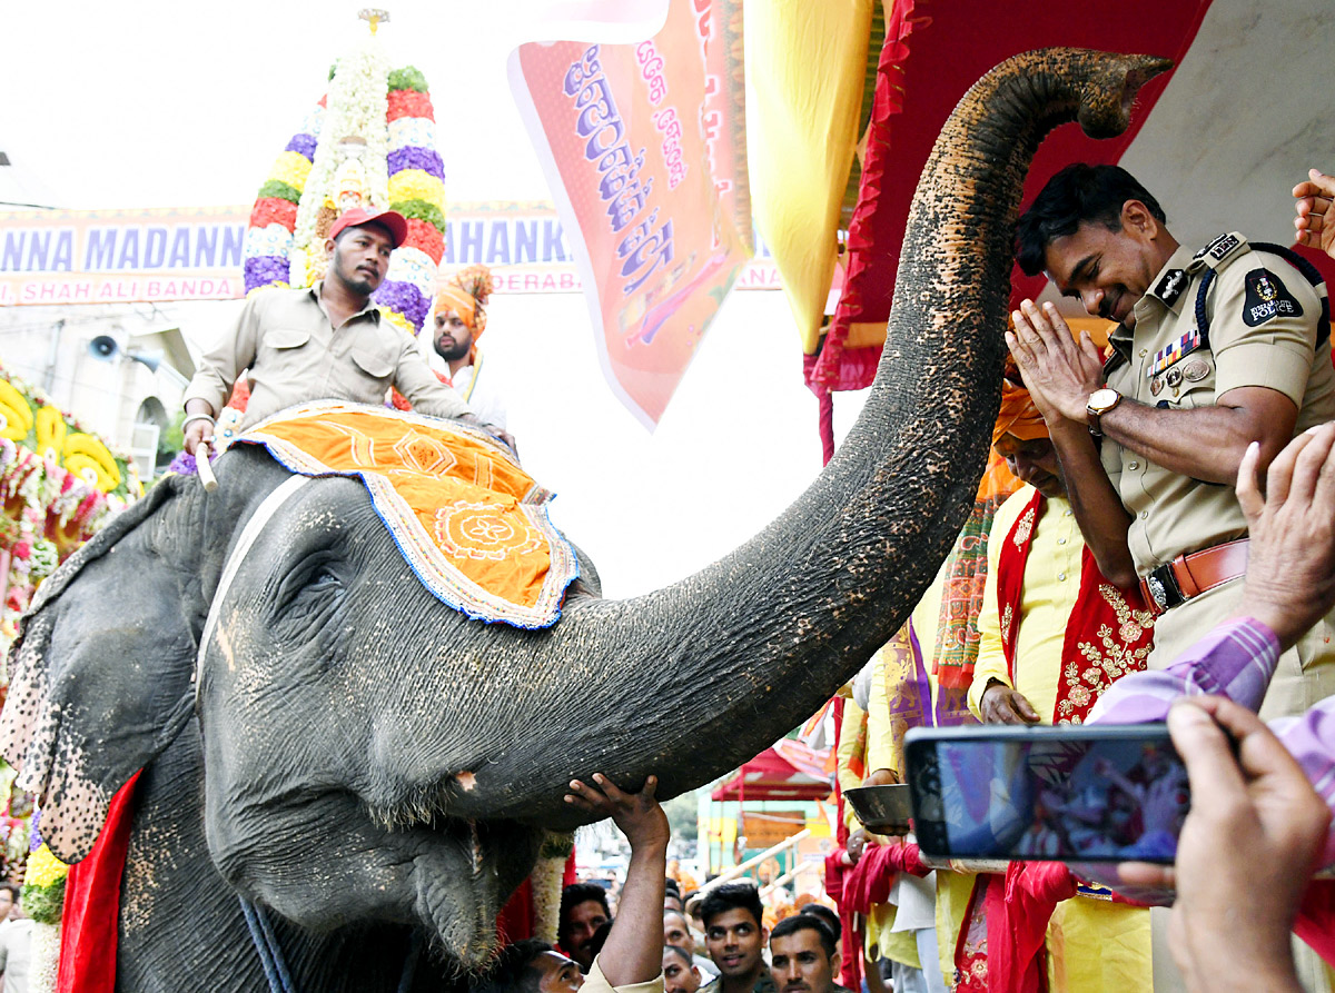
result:
[[[259,190],[243,248],[246,292],[312,286],[328,266],[324,242],[338,216],[390,207],[407,218],[409,238],[374,300],[386,320],[417,335],[445,254],[445,166],[426,77],[411,65],[391,68],[376,36],[386,11],[359,16],[370,33],[334,64],[328,91]],[[224,447],[240,422],[244,387],[243,378],[219,419]]]

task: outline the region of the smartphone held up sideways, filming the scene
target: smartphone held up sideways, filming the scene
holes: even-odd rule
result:
[[[1191,809],[1161,723],[916,727],[904,751],[934,858],[1172,862]]]

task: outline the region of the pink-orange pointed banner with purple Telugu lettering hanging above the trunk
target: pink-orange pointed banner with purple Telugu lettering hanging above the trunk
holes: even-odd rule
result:
[[[603,374],[653,430],[749,255],[736,219],[750,206],[741,3],[670,0],[662,31],[638,44],[521,45],[510,85],[575,250]]]

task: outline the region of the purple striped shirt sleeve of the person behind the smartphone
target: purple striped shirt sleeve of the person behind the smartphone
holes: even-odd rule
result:
[[[1179,697],[1206,694],[1259,710],[1279,653],[1279,639],[1260,621],[1228,621],[1167,669],[1131,673],[1115,682],[1089,711],[1089,723],[1163,721]],[[1318,795],[1335,811],[1335,697],[1323,699],[1302,717],[1271,721],[1270,729],[1298,759]],[[1335,866],[1335,822],[1326,838],[1322,866]]]

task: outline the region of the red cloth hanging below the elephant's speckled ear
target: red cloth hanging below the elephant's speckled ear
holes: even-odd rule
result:
[[[69,866],[60,924],[56,993],[115,993],[120,877],[125,872],[135,773],[116,791],[88,857]]]

